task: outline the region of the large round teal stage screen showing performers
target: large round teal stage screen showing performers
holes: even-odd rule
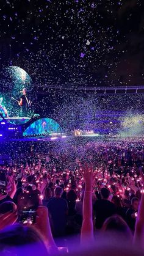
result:
[[[0,113],[9,122],[26,123],[34,115],[36,94],[34,82],[20,67],[1,71]]]

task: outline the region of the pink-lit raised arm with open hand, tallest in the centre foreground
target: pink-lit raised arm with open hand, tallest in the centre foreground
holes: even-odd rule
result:
[[[84,201],[83,201],[83,220],[81,229],[81,244],[93,241],[93,205],[92,205],[92,185],[96,173],[93,173],[92,166],[85,167],[81,170],[81,175],[85,181]]]

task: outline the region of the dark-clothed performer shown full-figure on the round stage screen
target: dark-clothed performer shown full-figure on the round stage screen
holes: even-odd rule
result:
[[[29,109],[31,107],[31,101],[27,96],[26,88],[22,91],[23,95],[21,95],[20,101],[18,101],[19,106],[21,106],[21,116],[27,117],[29,115]]]

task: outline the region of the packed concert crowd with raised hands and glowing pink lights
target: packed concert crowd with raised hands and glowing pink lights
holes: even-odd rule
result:
[[[1,255],[143,255],[143,164],[135,138],[30,150],[1,165]]]

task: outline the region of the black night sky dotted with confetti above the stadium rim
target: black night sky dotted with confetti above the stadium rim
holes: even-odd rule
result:
[[[143,0],[1,0],[0,64],[38,84],[144,84]]]

